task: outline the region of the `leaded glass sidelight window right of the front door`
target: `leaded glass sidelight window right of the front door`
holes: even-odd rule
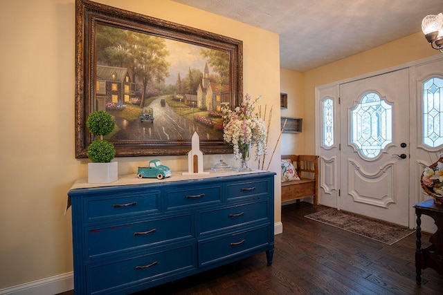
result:
[[[423,144],[443,144],[443,79],[437,77],[423,83]]]

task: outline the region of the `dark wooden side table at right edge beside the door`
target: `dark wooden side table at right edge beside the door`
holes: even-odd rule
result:
[[[422,283],[422,269],[431,267],[438,274],[443,274],[443,206],[434,200],[426,200],[413,206],[417,216],[417,249],[415,250],[415,271],[417,284]],[[422,214],[433,218],[437,231],[429,238],[431,245],[422,249]]]

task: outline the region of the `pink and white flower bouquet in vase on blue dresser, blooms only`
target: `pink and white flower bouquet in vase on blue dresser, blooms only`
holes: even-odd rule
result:
[[[255,160],[266,154],[267,131],[264,121],[253,113],[254,104],[260,99],[252,99],[246,94],[243,102],[234,110],[228,106],[222,108],[224,141],[231,144],[234,149],[234,156],[237,160],[246,160],[248,151],[255,146]]]

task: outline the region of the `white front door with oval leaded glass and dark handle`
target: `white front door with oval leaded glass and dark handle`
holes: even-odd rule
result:
[[[340,85],[338,208],[408,226],[408,69]]]

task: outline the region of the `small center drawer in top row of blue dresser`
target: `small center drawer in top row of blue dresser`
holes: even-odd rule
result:
[[[183,209],[202,204],[221,202],[221,187],[200,187],[198,189],[166,190],[167,209]]]

